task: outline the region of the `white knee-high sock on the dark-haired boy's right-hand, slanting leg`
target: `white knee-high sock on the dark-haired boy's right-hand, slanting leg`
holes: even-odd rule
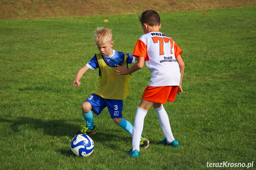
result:
[[[165,109],[163,108],[163,105],[160,108],[154,110],[158,114],[158,122],[160,123],[160,126],[162,128],[163,135],[166,138],[166,142],[169,144],[172,143],[175,139],[171,132],[169,117]]]

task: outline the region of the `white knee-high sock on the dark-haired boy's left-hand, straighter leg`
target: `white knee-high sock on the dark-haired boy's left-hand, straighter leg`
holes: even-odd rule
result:
[[[137,112],[134,119],[134,125],[133,125],[133,134],[132,134],[132,152],[134,150],[139,151],[139,144],[141,139],[141,133],[143,130],[144,125],[144,118],[147,114],[147,111],[144,109],[141,109],[140,107],[137,108]]]

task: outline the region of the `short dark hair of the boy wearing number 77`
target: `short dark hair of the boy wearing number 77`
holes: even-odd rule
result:
[[[154,10],[147,10],[142,12],[139,16],[139,21],[141,24],[147,23],[149,26],[159,26],[160,25],[160,16]]]

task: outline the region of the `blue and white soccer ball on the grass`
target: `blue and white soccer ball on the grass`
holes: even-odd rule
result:
[[[93,153],[94,143],[88,135],[77,135],[70,143],[70,150],[75,156],[89,156]]]

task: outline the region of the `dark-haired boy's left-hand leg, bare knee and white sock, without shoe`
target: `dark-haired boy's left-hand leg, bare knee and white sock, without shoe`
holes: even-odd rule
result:
[[[141,99],[141,103],[137,108],[134,125],[133,125],[133,135],[132,135],[132,152],[134,150],[139,151],[141,133],[143,131],[144,118],[147,114],[148,109],[152,106],[153,102]]]

